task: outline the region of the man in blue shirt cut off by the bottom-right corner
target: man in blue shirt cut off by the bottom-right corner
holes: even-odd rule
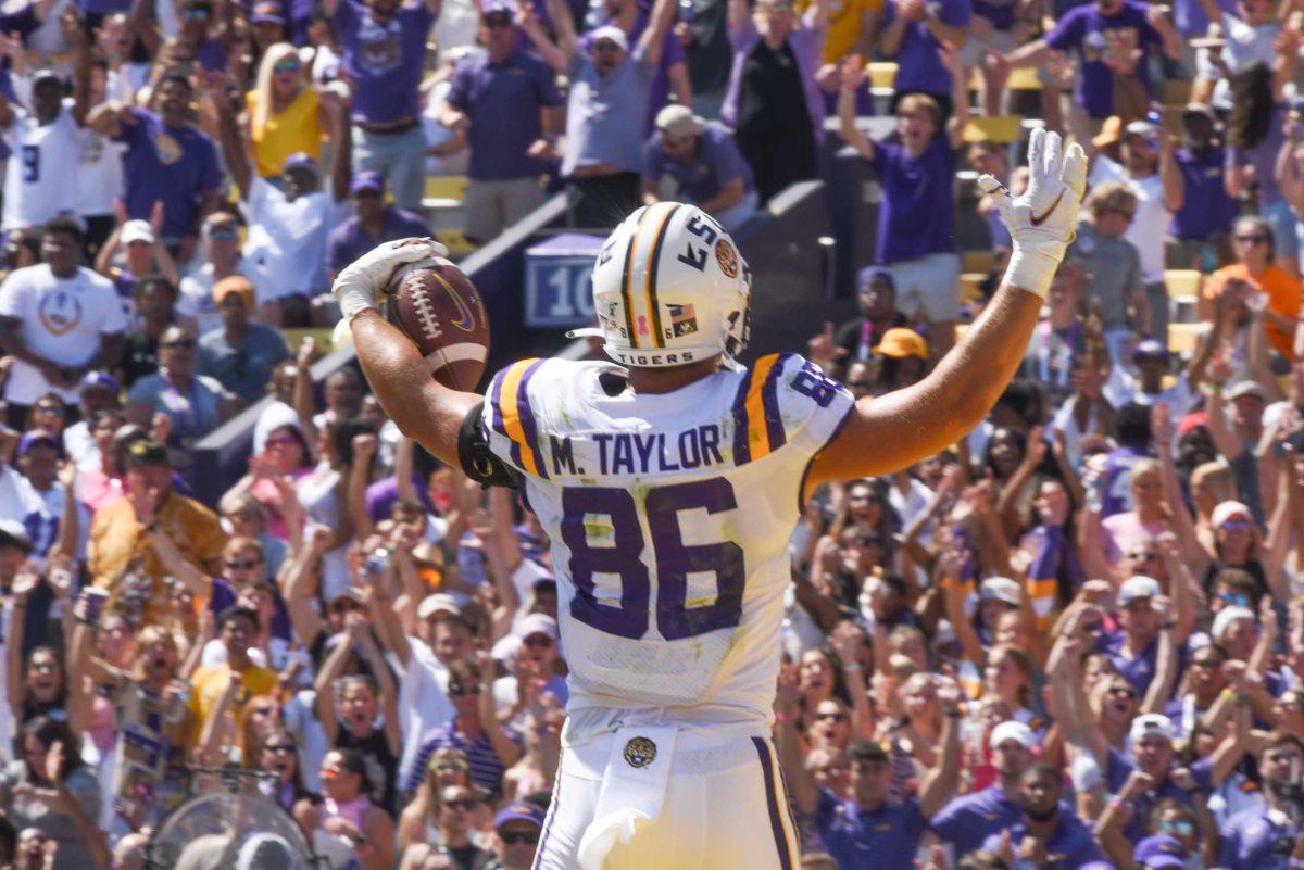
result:
[[[1300,836],[1300,771],[1304,742],[1291,733],[1275,737],[1258,755],[1267,802],[1231,818],[1218,848],[1223,870],[1287,870],[1304,860]]]

